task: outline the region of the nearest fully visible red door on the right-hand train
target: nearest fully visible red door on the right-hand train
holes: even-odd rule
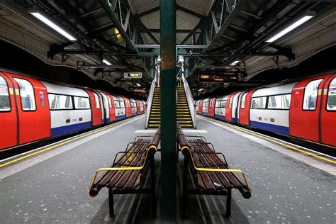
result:
[[[326,77],[304,79],[293,87],[289,111],[290,135],[319,141],[322,85]]]

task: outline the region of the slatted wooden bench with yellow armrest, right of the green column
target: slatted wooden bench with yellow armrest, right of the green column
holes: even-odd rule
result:
[[[191,139],[187,139],[190,137]],[[177,140],[184,155],[182,215],[186,215],[187,194],[226,195],[226,217],[231,215],[231,191],[237,189],[244,198],[251,197],[251,189],[245,173],[240,169],[230,169],[225,156],[215,152],[213,145],[202,136],[184,135],[177,124]],[[196,184],[196,189],[188,189],[188,167]],[[237,173],[242,174],[243,182]]]

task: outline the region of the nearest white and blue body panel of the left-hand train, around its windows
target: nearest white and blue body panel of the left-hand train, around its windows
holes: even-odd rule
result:
[[[43,82],[50,94],[60,96],[79,96],[89,99],[89,94],[83,89],[61,86],[50,82]],[[48,100],[49,101],[49,100]],[[73,99],[72,99],[73,101]],[[52,103],[49,101],[50,106]],[[50,109],[51,136],[72,133],[91,126],[91,109]]]

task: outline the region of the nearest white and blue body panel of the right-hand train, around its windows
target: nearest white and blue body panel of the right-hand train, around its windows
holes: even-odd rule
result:
[[[296,83],[273,86],[254,91],[251,99],[250,123],[252,126],[274,133],[289,135],[289,109],[253,108],[253,99],[263,96],[291,94]],[[268,101],[267,103],[268,104]],[[290,105],[290,101],[289,101]]]

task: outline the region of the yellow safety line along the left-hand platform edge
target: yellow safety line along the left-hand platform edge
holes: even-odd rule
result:
[[[1,168],[1,167],[6,167],[7,165],[12,164],[12,163],[14,163],[14,162],[18,162],[18,161],[20,161],[20,160],[22,160],[22,159],[26,159],[26,158],[28,158],[28,157],[32,157],[33,155],[38,155],[38,154],[40,154],[41,152],[45,152],[45,151],[47,151],[47,150],[52,150],[52,149],[55,148],[55,147],[59,147],[59,146],[61,146],[61,145],[65,145],[65,144],[67,144],[67,143],[69,143],[69,142],[73,142],[74,140],[79,140],[79,139],[81,139],[81,138],[84,138],[84,137],[86,137],[86,136],[92,135],[92,134],[94,134],[94,133],[99,133],[99,132],[101,132],[102,130],[106,130],[106,129],[108,129],[108,128],[112,128],[112,127],[114,127],[114,126],[116,126],[116,125],[120,125],[120,124],[125,123],[125,122],[127,122],[127,121],[130,121],[130,120],[119,121],[118,123],[113,123],[113,124],[108,125],[108,126],[106,126],[106,127],[104,127],[104,128],[101,128],[101,129],[99,129],[99,130],[94,130],[94,131],[92,131],[92,132],[90,132],[90,133],[86,133],[86,134],[84,134],[84,135],[80,135],[80,136],[78,136],[78,137],[76,137],[76,138],[72,138],[72,139],[67,140],[67,141],[65,141],[65,142],[60,142],[60,143],[57,144],[57,145],[52,145],[52,146],[50,146],[50,147],[45,148],[44,150],[40,150],[40,151],[38,151],[38,152],[33,152],[33,153],[28,154],[28,155],[25,155],[25,156],[23,156],[23,157],[19,157],[19,158],[17,158],[17,159],[13,159],[13,160],[11,160],[11,161],[9,161],[9,162],[5,162],[5,163],[3,163],[3,164],[0,164],[0,168]]]

